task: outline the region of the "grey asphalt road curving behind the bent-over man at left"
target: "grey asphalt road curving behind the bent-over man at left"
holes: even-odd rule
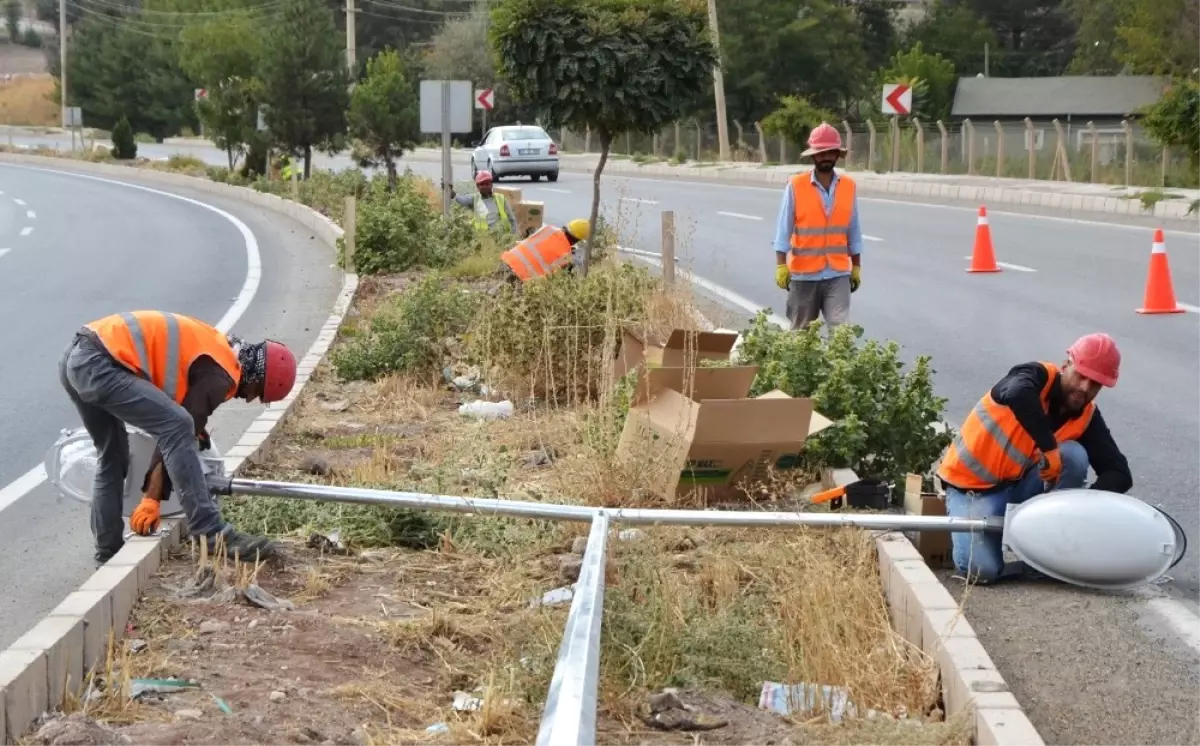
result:
[[[114,311],[167,308],[211,324],[235,303],[233,331],[270,335],[304,355],[341,288],[328,247],[299,224],[235,200],[178,191],[240,219],[260,269],[244,291],[251,253],[238,225],[199,204],[145,188],[0,166],[0,649],[95,571],[84,505],[56,500],[41,464],[78,415],[58,361],[82,324]],[[262,404],[230,402],[212,420],[229,449]]]

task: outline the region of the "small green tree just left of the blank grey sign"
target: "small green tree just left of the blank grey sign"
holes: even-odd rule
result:
[[[367,74],[354,86],[349,112],[350,136],[367,148],[359,166],[388,167],[388,189],[396,188],[396,161],[420,139],[420,101],[395,49],[367,62]]]

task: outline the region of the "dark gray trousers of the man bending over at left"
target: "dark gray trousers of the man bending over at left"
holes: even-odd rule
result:
[[[188,531],[206,536],[224,528],[204,479],[196,423],[186,409],[84,335],[77,335],[62,354],[59,380],[79,410],[100,459],[91,499],[91,533],[98,551],[116,551],[125,543],[121,513],[130,470],[125,423],[158,440],[172,487],[187,513]]]

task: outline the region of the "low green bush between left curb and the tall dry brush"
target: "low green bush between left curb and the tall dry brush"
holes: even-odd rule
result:
[[[478,296],[433,273],[389,301],[366,333],[334,350],[337,374],[374,380],[389,373],[432,373],[442,366],[448,337],[462,335]]]

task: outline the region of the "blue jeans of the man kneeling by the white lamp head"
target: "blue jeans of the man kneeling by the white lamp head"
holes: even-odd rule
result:
[[[1074,489],[1087,480],[1087,451],[1074,440],[1058,444],[1062,455],[1062,476],[1054,489]],[[955,518],[1002,517],[1009,504],[1025,503],[1046,492],[1038,469],[1030,469],[1025,476],[1001,489],[988,493],[962,492],[946,486],[946,512]],[[950,534],[954,566],[960,573],[979,583],[1025,573],[1025,562],[1004,565],[1001,534]]]

